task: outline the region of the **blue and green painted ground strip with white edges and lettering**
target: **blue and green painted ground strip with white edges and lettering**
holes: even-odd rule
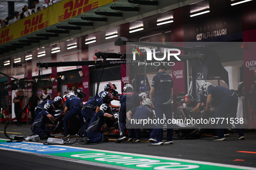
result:
[[[0,149],[22,152],[26,151],[32,154],[42,154],[42,156],[52,155],[51,157],[57,159],[60,159],[60,157],[62,157],[70,161],[84,161],[84,164],[90,162],[93,164],[97,163],[100,167],[113,166],[113,168],[119,167],[120,169],[132,168],[139,170],[256,170],[256,168],[254,167],[242,167],[203,161],[176,159],[170,157],[159,157],[144,154],[132,154],[117,151],[78,148],[67,145],[43,145],[42,143],[35,142],[6,142],[6,139],[0,139]]]

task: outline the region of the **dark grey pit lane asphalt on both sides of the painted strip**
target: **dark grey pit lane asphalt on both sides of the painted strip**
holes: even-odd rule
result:
[[[4,125],[0,124],[0,138],[6,139],[4,135]],[[22,126],[16,126],[15,124],[11,124],[7,127],[6,133],[10,137],[10,135],[23,135],[24,138],[26,136],[32,135],[30,130],[30,124],[23,124]],[[166,132],[165,132],[166,133]],[[149,135],[143,134],[142,141],[144,142],[128,142],[124,141],[119,144],[115,143],[115,139],[118,138],[117,134],[107,134],[110,139],[107,143],[101,143],[97,145],[82,145],[76,142],[73,145],[79,148],[91,148],[91,149],[100,149],[107,151],[120,151],[126,153],[134,153],[134,154],[145,154],[152,156],[161,156],[161,157],[170,157],[170,158],[178,158],[178,159],[186,159],[186,160],[194,160],[194,161],[204,161],[204,162],[212,162],[212,163],[220,163],[227,165],[237,165],[237,166],[245,166],[245,167],[256,167],[256,130],[248,130],[244,129],[245,140],[238,140],[238,134],[235,132],[234,134],[230,134],[229,137],[226,137],[225,141],[212,141],[212,135],[206,135],[201,139],[177,139],[177,135],[174,135],[173,142],[174,144],[164,144],[164,145],[151,145],[148,142]],[[62,134],[55,134],[55,137],[63,137]],[[74,138],[70,138],[71,142],[75,142],[75,135],[71,136]],[[40,140],[35,143],[45,143],[47,140]],[[255,153],[244,153],[238,151],[247,151],[247,152],[255,152]],[[14,151],[3,151],[0,150],[0,160],[3,163],[2,165],[7,166],[7,160],[12,159],[16,161],[18,165],[22,164],[22,167],[28,164],[31,166],[32,162],[36,162],[35,160],[42,160],[42,164],[45,162],[45,166],[41,166],[41,163],[38,166],[39,169],[45,169],[46,164],[50,164],[51,167],[58,167],[65,165],[64,169],[74,169],[72,166],[81,167],[82,165],[71,164],[63,162],[56,163],[54,159],[47,159],[46,157],[29,157],[29,154],[25,153],[17,153]],[[33,160],[34,161],[33,161]],[[53,166],[54,165],[54,166]],[[16,166],[14,164],[9,164],[8,167],[4,169],[12,169]],[[5,166],[4,166],[5,167]],[[44,168],[43,168],[44,167]],[[38,169],[37,168],[37,169]],[[26,168],[22,168],[26,169]],[[30,168],[29,168],[30,169]],[[100,167],[88,165],[87,169],[100,169]],[[108,169],[104,167],[104,169]],[[113,168],[110,168],[113,169]]]

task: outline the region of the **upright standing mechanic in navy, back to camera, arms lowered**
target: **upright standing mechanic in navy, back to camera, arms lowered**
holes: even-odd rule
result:
[[[150,90],[150,100],[154,104],[156,118],[163,119],[165,114],[166,120],[172,120],[172,88],[173,80],[172,76],[165,72],[167,68],[163,65],[156,66],[158,73],[152,79],[152,85]],[[153,98],[154,97],[154,98]],[[167,139],[165,144],[172,144],[173,125],[167,123]],[[157,124],[157,137],[156,141],[152,142],[152,145],[162,145],[163,139],[163,125]]]

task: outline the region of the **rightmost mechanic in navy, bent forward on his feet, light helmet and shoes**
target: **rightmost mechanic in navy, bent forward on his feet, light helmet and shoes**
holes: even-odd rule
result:
[[[204,94],[207,96],[205,110],[210,109],[211,98],[219,101],[219,105],[217,106],[217,112],[214,113],[215,122],[217,122],[216,126],[218,131],[218,137],[214,138],[213,141],[224,141],[226,140],[226,138],[224,137],[224,131],[227,130],[227,124],[231,122],[231,119],[235,121],[235,118],[237,117],[238,97],[232,90],[222,86],[213,86],[210,82],[204,83],[203,91]],[[225,122],[227,114],[230,114],[230,122]],[[240,120],[236,121],[236,123],[234,124],[237,128],[237,133],[239,134],[238,139],[245,139],[243,131],[241,129],[242,126],[240,124]]]

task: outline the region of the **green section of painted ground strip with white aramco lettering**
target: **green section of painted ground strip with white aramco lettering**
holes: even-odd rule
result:
[[[175,161],[175,159],[172,160],[172,158],[159,159],[154,157],[136,156],[136,154],[119,154],[101,151],[78,151],[50,155],[128,167],[138,170],[239,170],[238,168],[231,167],[232,165],[230,165],[230,167],[228,167],[228,165],[227,167],[222,167],[216,165]]]

